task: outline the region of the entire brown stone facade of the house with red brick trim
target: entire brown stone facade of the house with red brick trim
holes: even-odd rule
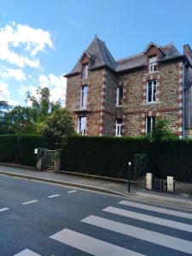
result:
[[[88,136],[114,136],[115,120],[123,119],[123,136],[136,137],[145,132],[145,119],[156,116],[170,121],[170,128],[180,137],[182,123],[182,61],[160,63],[160,69],[148,74],[146,68],[115,75],[102,68],[89,71],[89,78],[79,75],[67,79],[67,108],[74,113],[77,127],[79,116],[87,116]],[[157,80],[157,101],[146,103],[148,80]],[[80,86],[88,84],[87,113],[79,110]],[[123,106],[116,107],[116,89],[123,85]],[[180,89],[179,89],[180,88]]]

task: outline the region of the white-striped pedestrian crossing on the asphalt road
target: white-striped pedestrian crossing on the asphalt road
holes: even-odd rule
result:
[[[107,236],[103,238],[102,233]],[[150,251],[150,247],[166,251],[158,255],[192,255],[191,233],[190,212],[152,203],[148,205],[141,201],[119,201],[114,206],[103,208],[96,215],[81,219],[79,226],[73,229],[65,227],[49,236],[49,239],[62,244],[63,252],[67,246],[96,256],[156,255]],[[120,244],[118,237],[123,237],[124,243]],[[145,246],[139,247],[138,244],[142,243],[145,243]],[[39,254],[25,254],[24,250],[16,255]]]

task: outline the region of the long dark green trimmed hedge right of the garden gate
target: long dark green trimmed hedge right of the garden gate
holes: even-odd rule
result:
[[[61,155],[61,169],[126,178],[126,167],[130,160],[134,163],[134,154],[148,154],[148,172],[158,177],[172,175],[179,181],[192,182],[191,141],[149,143],[130,137],[70,137]]]

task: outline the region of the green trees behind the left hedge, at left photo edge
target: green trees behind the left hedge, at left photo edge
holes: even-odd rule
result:
[[[42,126],[48,116],[60,108],[60,102],[51,102],[49,88],[38,88],[37,97],[29,92],[26,94],[26,102],[32,102],[32,107],[16,106],[9,112],[0,115],[0,133],[28,133],[35,134],[38,127]],[[0,102],[0,111],[8,108],[7,102]],[[1,113],[1,112],[0,112]]]

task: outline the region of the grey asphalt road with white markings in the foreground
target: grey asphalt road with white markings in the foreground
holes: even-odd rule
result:
[[[192,212],[0,176],[0,255],[191,255]]]

